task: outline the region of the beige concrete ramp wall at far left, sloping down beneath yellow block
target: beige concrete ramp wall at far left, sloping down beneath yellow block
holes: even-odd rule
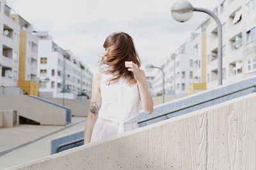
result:
[[[66,110],[29,96],[0,96],[0,110],[17,110],[40,125],[66,125]]]

